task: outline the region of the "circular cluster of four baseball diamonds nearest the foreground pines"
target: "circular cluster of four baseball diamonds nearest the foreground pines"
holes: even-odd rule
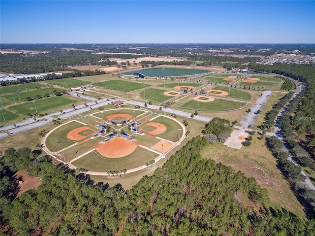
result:
[[[142,109],[109,109],[71,120],[51,130],[42,140],[49,155],[72,168],[107,175],[148,167],[164,158],[185,138],[176,119]],[[146,165],[147,164],[147,165]]]

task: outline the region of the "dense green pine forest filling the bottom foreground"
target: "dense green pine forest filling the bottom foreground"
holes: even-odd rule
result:
[[[123,236],[314,235],[314,220],[284,209],[262,207],[258,212],[245,206],[247,198],[257,205],[268,202],[267,190],[240,171],[202,159],[200,151],[207,145],[205,138],[192,138],[126,192],[119,184],[93,185],[88,175],[48,159],[36,171],[27,165],[42,183],[1,207],[2,224],[8,221],[20,235],[112,236],[119,226]],[[4,163],[12,168],[15,162],[9,157],[23,159],[16,152],[4,154]]]

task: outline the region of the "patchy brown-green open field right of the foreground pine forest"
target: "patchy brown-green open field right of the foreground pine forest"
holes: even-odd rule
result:
[[[222,143],[214,143],[202,151],[202,156],[231,166],[235,171],[240,170],[247,177],[254,177],[263,188],[268,190],[270,205],[284,207],[300,216],[305,215],[303,206],[277,168],[276,158],[267,149],[265,140],[259,140],[257,134],[253,135],[251,146],[243,146],[238,150],[224,146]]]

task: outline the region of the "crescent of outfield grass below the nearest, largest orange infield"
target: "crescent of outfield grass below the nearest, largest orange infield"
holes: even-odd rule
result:
[[[79,168],[85,168],[90,171],[107,172],[110,170],[133,169],[154,160],[158,154],[147,149],[137,147],[136,150],[121,158],[105,158],[97,151],[92,152],[72,164]]]

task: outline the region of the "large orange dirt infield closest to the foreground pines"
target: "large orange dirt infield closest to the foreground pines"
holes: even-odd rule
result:
[[[134,152],[138,144],[123,137],[115,137],[96,147],[100,155],[108,158],[126,157]]]

